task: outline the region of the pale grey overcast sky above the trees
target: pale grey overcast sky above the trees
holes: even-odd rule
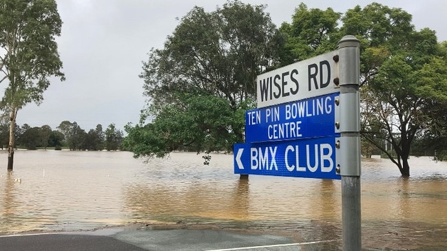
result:
[[[63,120],[76,121],[89,131],[96,124],[105,129],[115,123],[123,130],[127,122],[137,123],[144,106],[142,61],[152,47],[163,48],[178,20],[194,6],[208,12],[225,0],[56,0],[63,21],[57,39],[63,61],[64,82],[52,80],[38,107],[29,104],[18,113],[17,123],[31,127],[48,124],[52,129]],[[273,23],[291,22],[295,8],[304,2],[308,8],[333,8],[344,13],[356,5],[373,1],[323,0],[244,0],[254,5],[267,4]],[[447,40],[447,1],[379,1],[402,8],[413,15],[420,30],[437,32],[438,41]]]

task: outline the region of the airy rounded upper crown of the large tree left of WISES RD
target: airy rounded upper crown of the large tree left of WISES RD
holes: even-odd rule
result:
[[[278,32],[263,6],[231,1],[214,12],[191,10],[143,64],[152,108],[178,102],[178,94],[227,98],[233,109],[256,93],[256,76],[277,60]]]

